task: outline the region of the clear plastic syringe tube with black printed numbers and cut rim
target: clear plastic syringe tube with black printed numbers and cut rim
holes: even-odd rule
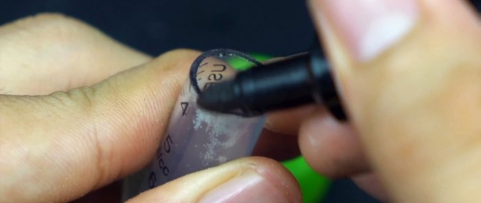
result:
[[[229,80],[238,69],[258,64],[249,56],[230,49],[215,49],[199,56],[192,64],[190,78],[172,110],[168,129],[150,169],[140,175],[144,180],[124,182],[127,184],[124,185],[124,193],[129,193],[124,197],[131,197],[194,171],[249,156],[265,118],[210,112],[199,108],[196,101],[198,93],[208,86]]]

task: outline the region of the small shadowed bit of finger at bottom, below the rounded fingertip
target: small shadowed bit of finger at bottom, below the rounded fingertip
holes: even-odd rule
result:
[[[388,194],[385,193],[376,174],[372,172],[359,174],[353,177],[353,181],[360,189],[372,195],[372,197],[376,198],[377,200],[380,200],[381,202],[389,202],[389,198],[387,196]]]

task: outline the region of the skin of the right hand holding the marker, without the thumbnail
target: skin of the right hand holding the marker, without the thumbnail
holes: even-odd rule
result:
[[[310,1],[318,29],[324,22],[316,14],[329,12],[326,2]],[[300,150],[314,169],[352,177],[381,200],[477,202],[480,16],[465,1],[416,2],[420,17],[414,29],[367,62],[348,53],[326,17],[334,29],[319,33],[350,123],[338,123],[318,107],[289,131],[299,130]],[[284,131],[287,116],[276,115],[274,131]]]

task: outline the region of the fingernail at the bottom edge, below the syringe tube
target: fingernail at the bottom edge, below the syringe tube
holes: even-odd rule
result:
[[[199,203],[289,202],[269,180],[254,171],[236,176],[206,193]]]

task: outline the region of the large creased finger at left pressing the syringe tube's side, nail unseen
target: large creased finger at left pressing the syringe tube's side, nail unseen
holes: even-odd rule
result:
[[[1,202],[73,200],[146,165],[198,54],[172,51],[67,92],[1,95]]]

